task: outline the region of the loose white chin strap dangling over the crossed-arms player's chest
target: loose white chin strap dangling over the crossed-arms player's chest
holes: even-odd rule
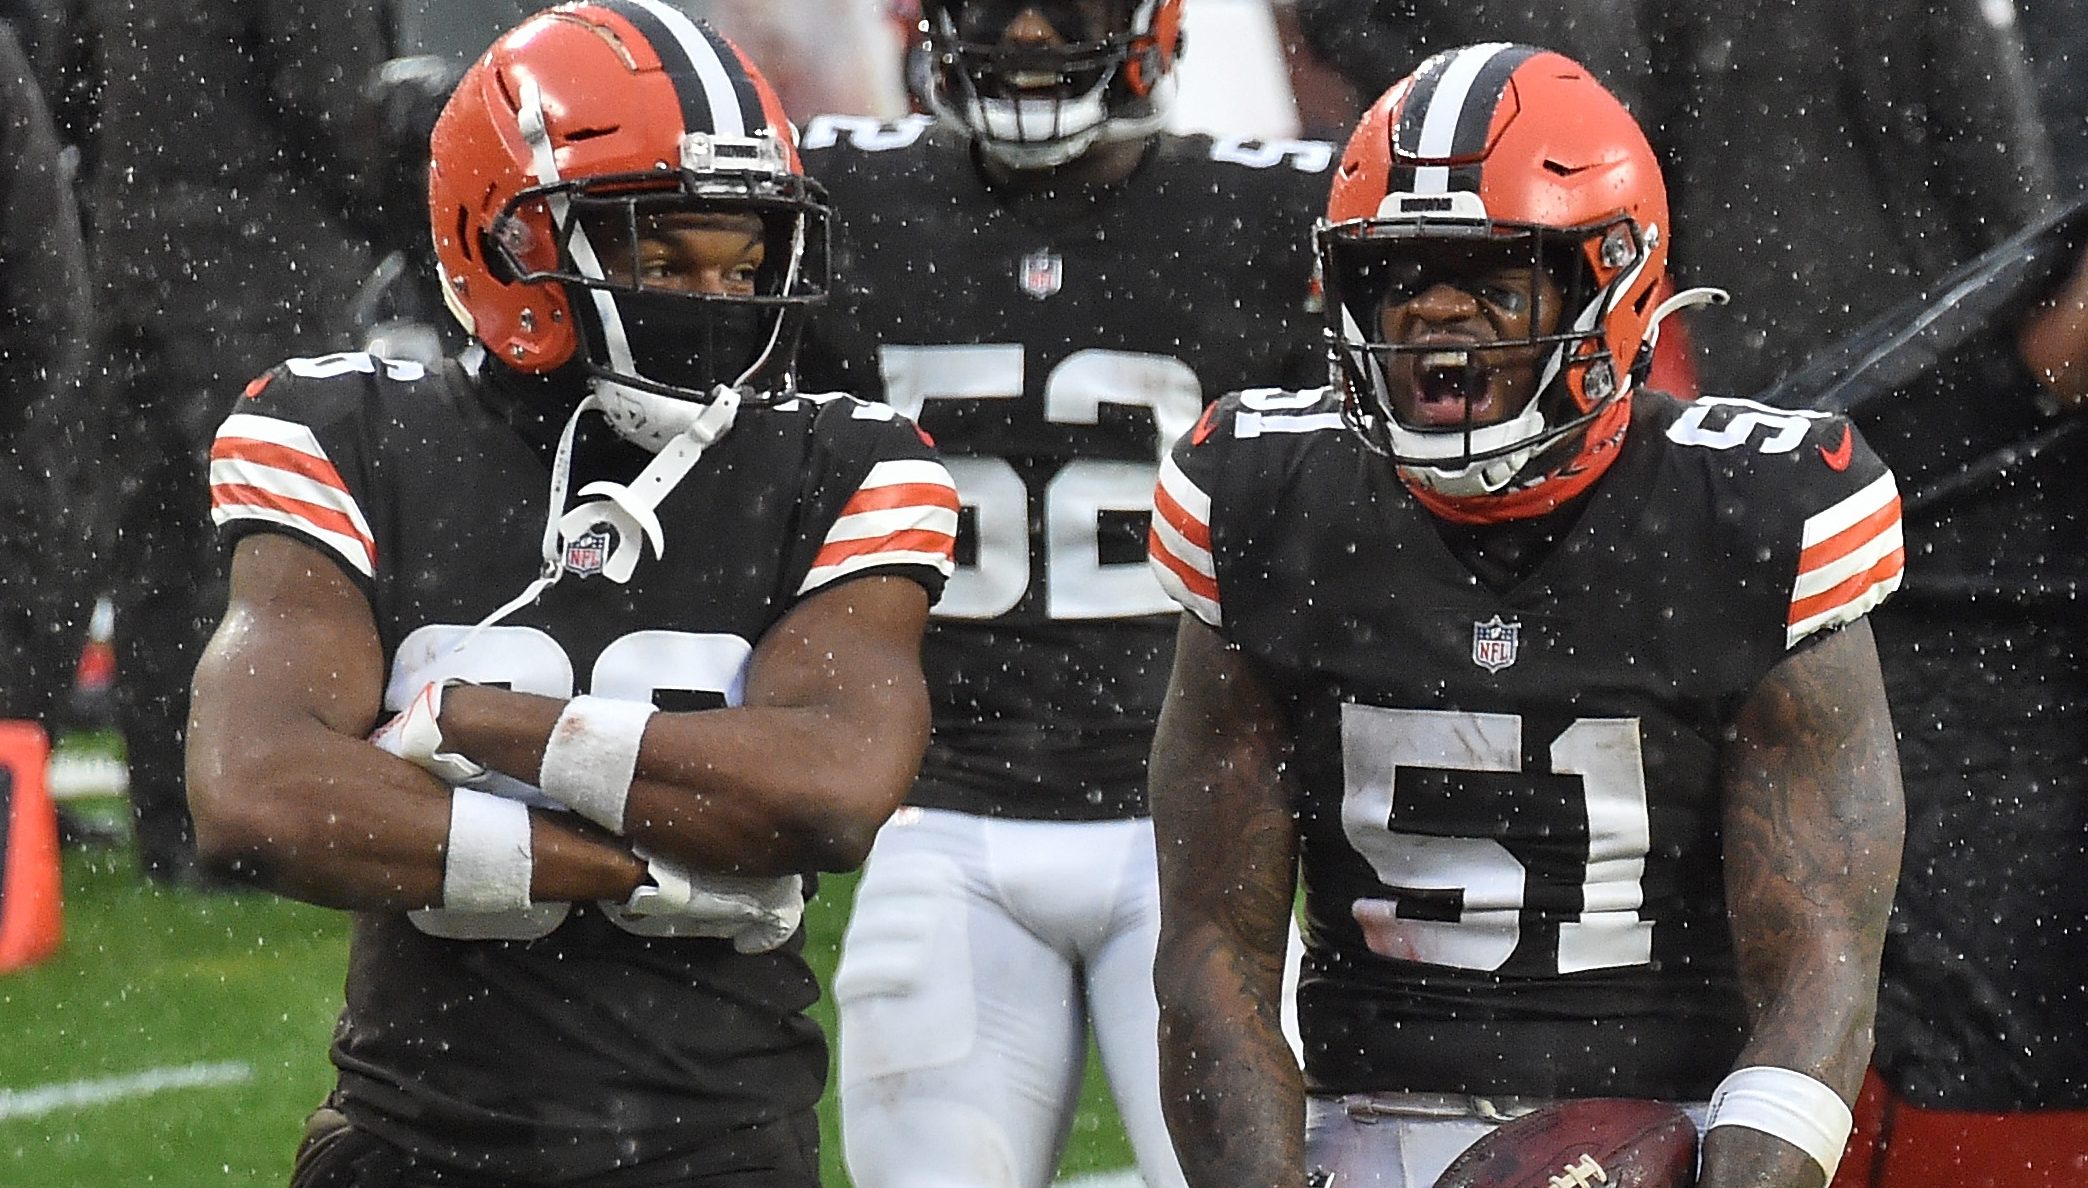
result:
[[[580,401],[572,415],[566,418],[566,428],[557,434],[557,453],[551,457],[551,509],[543,524],[543,545],[541,545],[541,568],[537,578],[522,589],[516,597],[501,603],[499,610],[487,618],[472,624],[472,631],[464,635],[455,651],[464,651],[478,633],[501,622],[509,614],[522,610],[524,605],[543,597],[545,591],[557,585],[566,576],[566,545],[587,537],[597,530],[597,526],[608,526],[616,543],[610,547],[610,557],[601,566],[601,576],[616,585],[628,583],[631,574],[637,570],[639,560],[645,555],[645,541],[651,541],[654,555],[666,555],[666,532],[660,526],[660,516],[656,507],[666,501],[668,493],[681,484],[683,478],[695,470],[695,464],[704,457],[704,451],[718,443],[733,428],[733,418],[739,415],[739,390],[718,384],[710,393],[710,403],[704,411],[689,422],[689,428],[681,430],[645,464],[628,484],[624,482],[589,482],[580,489],[580,497],[595,497],[580,503],[572,512],[566,507],[566,489],[572,480],[572,434],[580,424],[580,413],[589,409],[599,409],[601,397],[589,393]]]

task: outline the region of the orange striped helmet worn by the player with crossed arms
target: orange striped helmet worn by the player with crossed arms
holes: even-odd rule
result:
[[[827,290],[829,207],[781,102],[662,0],[562,4],[501,35],[434,125],[428,207],[474,338],[520,372],[578,359],[639,407],[787,386]],[[639,221],[683,211],[758,217],[752,294],[647,288]]]

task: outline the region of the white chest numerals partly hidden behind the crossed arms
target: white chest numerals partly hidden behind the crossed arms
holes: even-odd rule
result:
[[[516,693],[568,699],[578,689],[572,681],[572,658],[535,626],[487,626],[457,647],[472,628],[434,622],[413,628],[393,656],[390,681],[384,685],[384,708],[399,712],[430,681],[461,676],[480,685],[503,685]],[[587,691],[599,697],[651,702],[664,689],[716,693],[727,706],[739,706],[745,691],[748,662],[754,645],[737,635],[693,631],[633,631],[610,641],[595,658]],[[535,800],[549,806],[549,800]],[[626,917],[618,904],[603,904],[603,917],[637,935],[670,935],[672,921]],[[428,908],[407,912],[413,927],[447,940],[537,940],[566,923],[570,904],[532,904],[518,912],[451,912]]]

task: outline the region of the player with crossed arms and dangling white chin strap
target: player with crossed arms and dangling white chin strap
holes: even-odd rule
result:
[[[355,912],[294,1184],[812,1188],[802,892],[919,766],[954,486],[796,390],[827,203],[670,4],[495,42],[430,209],[476,347],[292,359],[211,461],[203,852]]]

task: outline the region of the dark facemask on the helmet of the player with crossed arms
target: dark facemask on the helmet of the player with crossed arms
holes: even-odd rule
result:
[[[743,284],[691,286],[672,259],[656,259],[658,228],[743,238]],[[555,251],[537,244],[545,230]],[[693,134],[679,171],[518,192],[493,219],[487,253],[516,282],[564,288],[610,424],[660,449],[720,386],[791,386],[806,315],[827,294],[827,236],[825,194],[783,167],[768,134]]]

